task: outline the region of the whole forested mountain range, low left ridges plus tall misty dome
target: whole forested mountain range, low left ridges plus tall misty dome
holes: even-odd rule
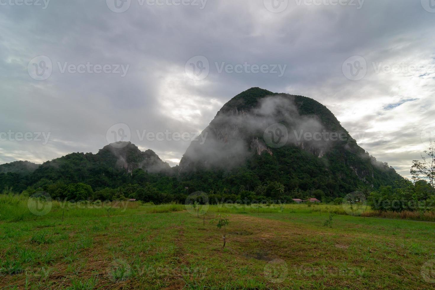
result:
[[[284,130],[279,146],[268,140],[269,133],[273,138],[281,134],[281,140]],[[312,140],[304,135],[316,132],[328,137]],[[340,138],[332,138],[332,133]],[[96,154],[71,153],[38,167],[4,164],[0,187],[27,193],[44,190],[62,198],[80,192],[80,198],[135,197],[159,203],[184,202],[197,190],[214,200],[331,200],[358,187],[394,187],[402,180],[359,147],[328,108],[308,97],[251,88],[226,103],[202,134],[205,143],[193,141],[177,167],[171,168],[152,150],[117,143]],[[32,170],[25,171],[25,164]],[[2,168],[15,169],[5,173]]]

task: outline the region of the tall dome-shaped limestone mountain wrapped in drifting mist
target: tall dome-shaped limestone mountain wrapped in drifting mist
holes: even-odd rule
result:
[[[268,132],[277,137],[272,135],[284,130],[288,140],[282,146],[268,140]],[[301,138],[305,133],[327,137]],[[251,88],[228,101],[202,134],[205,143],[192,142],[181,160],[183,180],[240,180],[245,174],[252,184],[241,183],[244,187],[279,181],[286,191],[317,189],[340,196],[359,186],[394,185],[402,178],[369,156],[327,107],[308,97]],[[338,140],[332,138],[335,134]]]

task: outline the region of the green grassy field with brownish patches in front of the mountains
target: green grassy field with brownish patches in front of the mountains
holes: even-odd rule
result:
[[[435,259],[431,222],[334,215],[331,228],[340,206],[305,204],[197,217],[175,204],[54,203],[36,216],[3,196],[0,210],[5,289],[435,289],[434,268],[422,275]],[[229,215],[225,248],[218,214]]]

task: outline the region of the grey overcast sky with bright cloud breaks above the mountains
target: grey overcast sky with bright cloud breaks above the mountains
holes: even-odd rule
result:
[[[434,0],[123,1],[0,0],[0,163],[120,135],[174,166],[250,87],[318,100],[403,176],[435,137]]]

